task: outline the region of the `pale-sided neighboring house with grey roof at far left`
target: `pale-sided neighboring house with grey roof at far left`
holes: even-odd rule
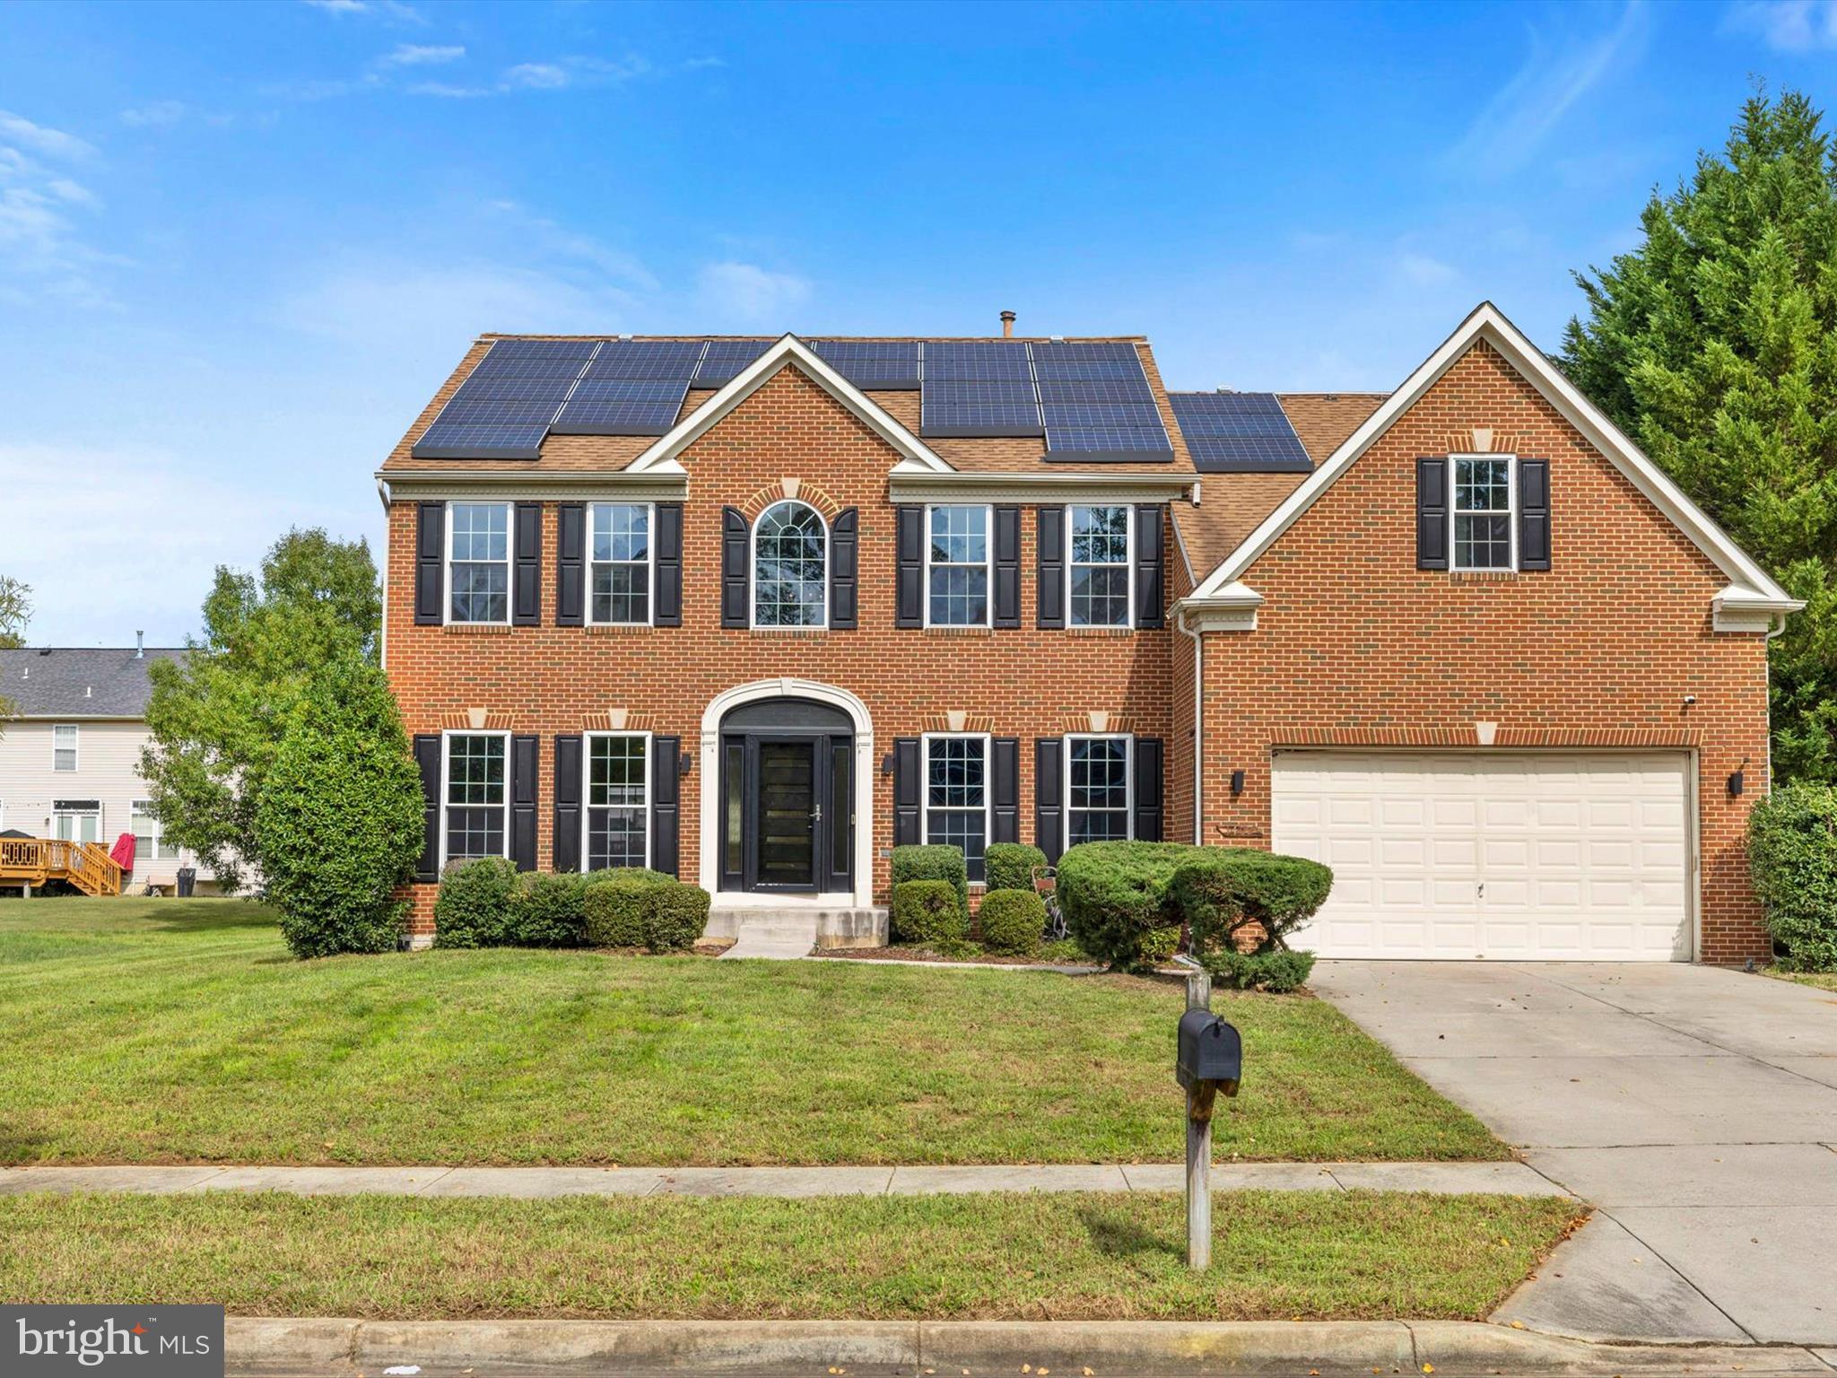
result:
[[[134,834],[134,869],[121,891],[175,886],[197,856],[160,836],[140,751],[149,740],[147,667],[175,649],[0,650],[0,698],[18,717],[0,722],[0,829],[114,847]],[[200,887],[209,871],[198,867]]]

